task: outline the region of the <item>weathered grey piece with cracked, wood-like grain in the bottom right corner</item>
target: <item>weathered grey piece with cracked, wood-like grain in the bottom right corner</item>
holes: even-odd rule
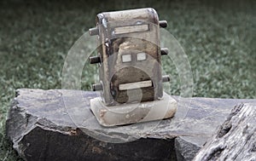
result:
[[[218,132],[194,158],[208,160],[256,160],[256,104],[235,106]]]

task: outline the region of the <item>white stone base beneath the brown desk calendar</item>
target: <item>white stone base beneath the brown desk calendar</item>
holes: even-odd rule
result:
[[[172,118],[177,111],[177,101],[164,93],[160,101],[105,106],[100,97],[90,100],[91,111],[103,126],[135,124],[164,118]]]

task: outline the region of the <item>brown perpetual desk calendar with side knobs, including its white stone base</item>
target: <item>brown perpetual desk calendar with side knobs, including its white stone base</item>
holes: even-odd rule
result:
[[[100,96],[90,100],[91,111],[103,126],[135,124],[172,118],[177,102],[163,92],[159,20],[154,9],[131,9],[96,15],[97,55],[90,57],[98,64],[99,82],[92,89]]]

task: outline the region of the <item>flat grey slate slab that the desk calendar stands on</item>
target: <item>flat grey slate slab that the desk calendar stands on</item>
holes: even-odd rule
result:
[[[96,96],[18,89],[6,126],[15,150],[26,160],[191,160],[233,106],[256,102],[175,96],[174,118],[105,128],[90,112]]]

